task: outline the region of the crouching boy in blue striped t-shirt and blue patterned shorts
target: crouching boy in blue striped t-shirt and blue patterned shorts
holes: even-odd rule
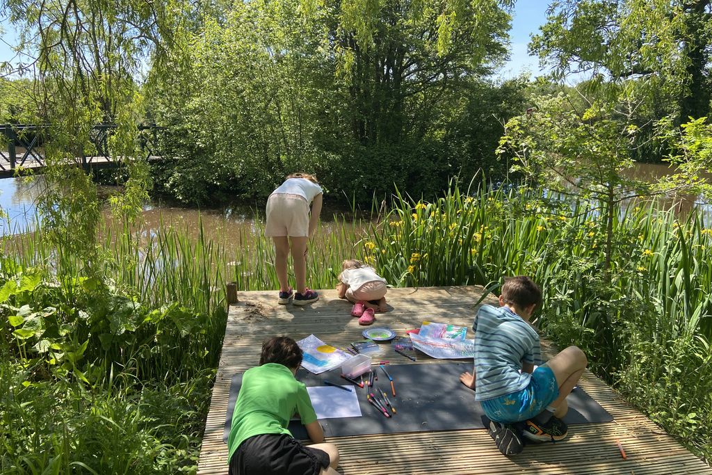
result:
[[[528,322],[541,305],[541,291],[529,277],[507,278],[499,305],[478,310],[473,372],[462,373],[460,381],[475,390],[475,400],[491,419],[488,432],[498,449],[511,455],[523,449],[518,427],[534,442],[566,437],[561,421],[568,410],[566,397],[587,359],[580,348],[570,346],[535,369],[539,335]],[[524,424],[516,424],[520,422]]]

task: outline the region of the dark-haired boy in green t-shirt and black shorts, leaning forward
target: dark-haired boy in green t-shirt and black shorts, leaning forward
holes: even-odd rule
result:
[[[302,350],[289,337],[265,340],[260,365],[242,377],[228,438],[229,475],[333,475],[339,463],[334,444],[323,444],[324,432],[303,382],[295,379]],[[292,437],[289,419],[299,414],[316,444]]]

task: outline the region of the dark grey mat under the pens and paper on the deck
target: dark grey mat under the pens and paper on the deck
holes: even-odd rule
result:
[[[366,391],[355,387],[363,417],[341,419],[321,419],[327,437],[342,437],[363,434],[387,434],[394,432],[423,432],[484,427],[483,412],[475,393],[459,381],[461,372],[471,371],[471,362],[448,362],[431,365],[387,365],[396,388],[395,397],[382,370],[377,370],[375,387],[384,390],[397,414],[387,419],[366,400]],[[307,386],[321,386],[323,380],[350,383],[340,377],[340,368],[320,375],[300,368],[297,379]],[[232,413],[242,382],[242,373],[232,378],[230,399],[225,422],[224,441],[230,432]],[[564,417],[567,424],[588,422],[610,422],[611,414],[587,395],[576,388],[567,398],[569,412]],[[298,421],[289,424],[289,431],[296,439],[308,439],[304,426]]]

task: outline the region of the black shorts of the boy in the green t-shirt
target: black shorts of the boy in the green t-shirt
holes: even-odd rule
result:
[[[230,459],[229,475],[319,475],[329,462],[325,451],[287,434],[261,434],[240,444]]]

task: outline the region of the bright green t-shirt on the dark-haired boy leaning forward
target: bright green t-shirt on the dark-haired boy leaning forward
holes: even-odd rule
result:
[[[307,388],[292,371],[278,363],[250,368],[242,376],[240,393],[232,413],[227,445],[228,460],[240,444],[259,434],[290,434],[289,419],[299,414],[302,424],[316,420]]]

